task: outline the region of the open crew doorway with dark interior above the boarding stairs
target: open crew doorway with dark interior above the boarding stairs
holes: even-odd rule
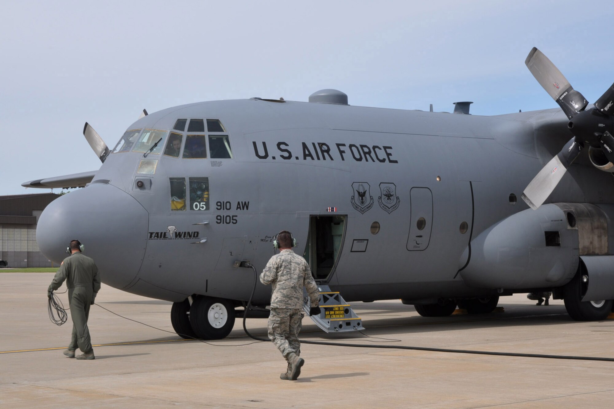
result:
[[[341,254],[347,216],[311,216],[305,260],[318,282],[326,282]]]

